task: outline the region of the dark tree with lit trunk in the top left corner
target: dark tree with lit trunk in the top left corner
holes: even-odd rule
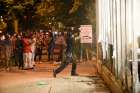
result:
[[[19,27],[20,28],[26,28],[22,27],[23,23],[25,23],[24,18],[25,16],[30,16],[34,13],[33,0],[3,0],[0,1],[3,3],[3,10],[2,16],[5,17],[5,21],[14,26],[14,32],[18,32]],[[33,11],[33,12],[32,12]],[[27,15],[26,15],[27,14]],[[20,24],[19,24],[20,23]],[[28,22],[27,22],[28,24]],[[11,30],[12,26],[8,25],[9,27],[7,29]]]

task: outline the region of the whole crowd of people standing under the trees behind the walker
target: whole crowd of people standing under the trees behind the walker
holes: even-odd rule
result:
[[[41,62],[45,49],[48,61],[53,60],[53,56],[57,54],[57,61],[69,62],[72,59],[73,45],[68,38],[71,38],[70,34],[63,32],[55,34],[51,31],[13,35],[0,34],[0,61],[5,64],[7,70],[12,63],[15,63],[14,65],[18,66],[19,69],[33,69],[36,62]],[[54,74],[60,72],[66,65],[62,64],[60,68],[55,70]]]

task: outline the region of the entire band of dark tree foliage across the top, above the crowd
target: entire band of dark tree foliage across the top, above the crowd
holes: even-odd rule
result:
[[[8,20],[25,20],[30,28],[48,26],[49,22],[65,25],[95,23],[95,0],[0,0],[0,14]],[[2,6],[2,7],[1,7]],[[3,8],[3,9],[2,9]]]

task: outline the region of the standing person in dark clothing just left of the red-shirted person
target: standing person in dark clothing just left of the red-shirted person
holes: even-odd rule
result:
[[[16,40],[16,61],[18,62],[19,69],[23,69],[23,43],[21,36],[17,36]]]

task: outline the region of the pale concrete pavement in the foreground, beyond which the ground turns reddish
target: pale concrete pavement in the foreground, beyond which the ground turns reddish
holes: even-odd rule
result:
[[[110,93],[100,77],[61,77],[3,87],[0,93]]]

